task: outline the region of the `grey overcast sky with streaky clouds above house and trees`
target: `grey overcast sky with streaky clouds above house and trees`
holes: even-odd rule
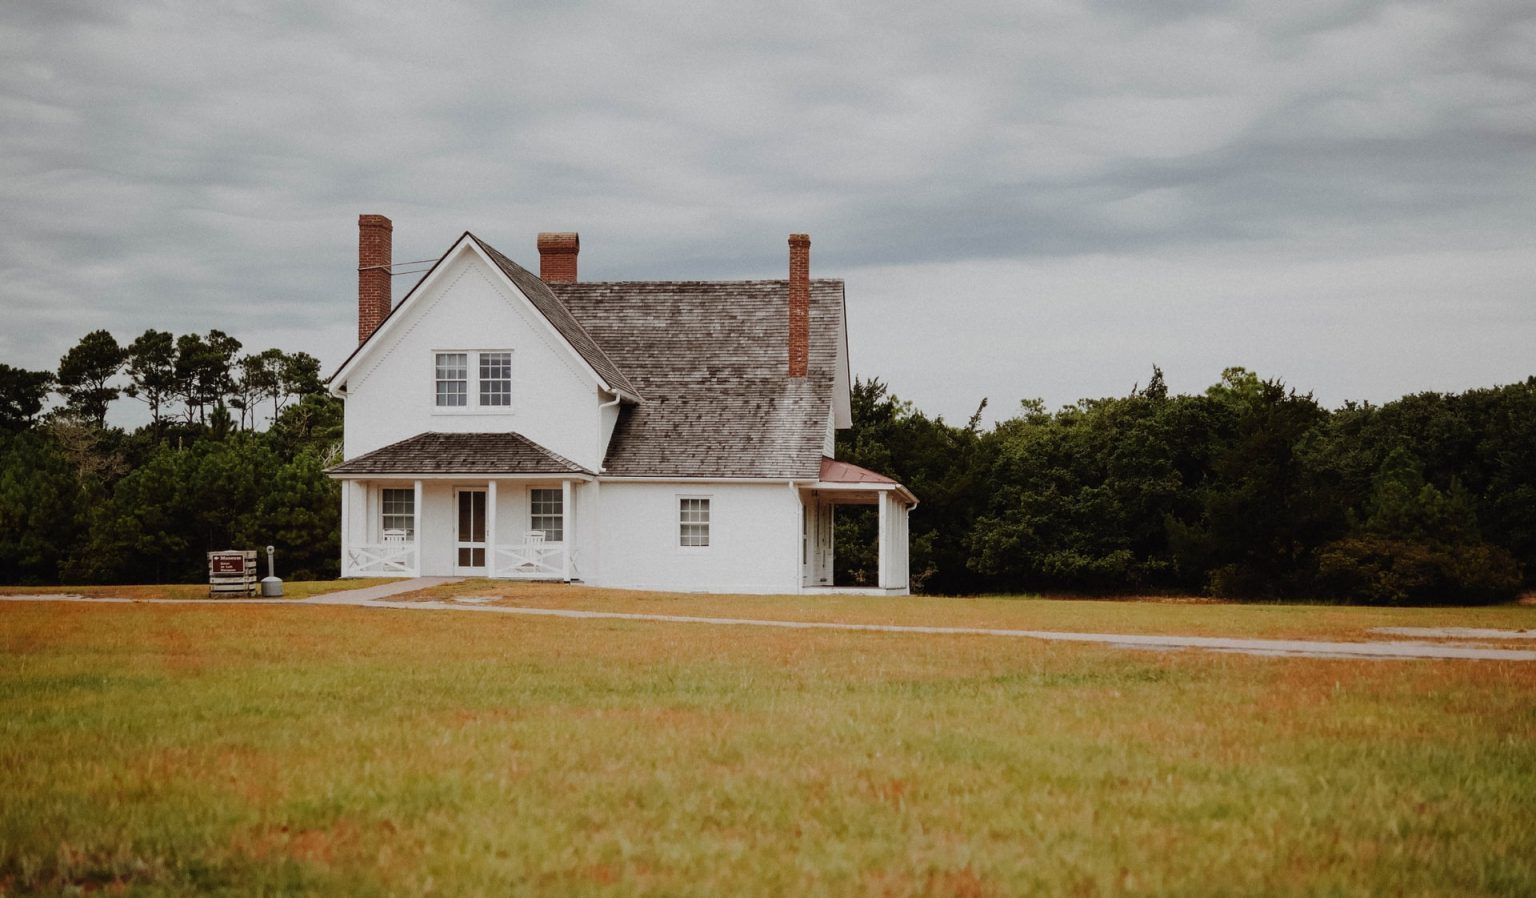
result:
[[[963,419],[1227,365],[1329,405],[1536,375],[1536,5],[0,5],[0,361],[355,342],[356,215],[584,279],[848,287]],[[396,278],[402,296],[409,278]]]

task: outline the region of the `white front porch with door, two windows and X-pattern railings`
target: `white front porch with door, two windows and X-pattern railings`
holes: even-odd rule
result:
[[[579,579],[576,477],[343,479],[343,577]]]

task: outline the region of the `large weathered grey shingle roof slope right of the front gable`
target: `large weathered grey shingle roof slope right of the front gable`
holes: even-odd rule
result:
[[[813,480],[833,410],[843,282],[811,281],[808,375],[788,376],[788,281],[548,284],[645,402],[604,473]]]

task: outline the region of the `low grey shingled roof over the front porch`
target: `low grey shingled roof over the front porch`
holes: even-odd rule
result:
[[[521,433],[418,433],[330,474],[590,474]]]

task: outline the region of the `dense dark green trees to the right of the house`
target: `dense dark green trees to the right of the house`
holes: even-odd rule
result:
[[[839,457],[922,500],[923,591],[1479,603],[1536,585],[1536,378],[1329,410],[1244,368],[1201,395],[1154,370],[1127,396],[980,419],[854,387]],[[839,577],[872,580],[872,527],[839,522]]]

